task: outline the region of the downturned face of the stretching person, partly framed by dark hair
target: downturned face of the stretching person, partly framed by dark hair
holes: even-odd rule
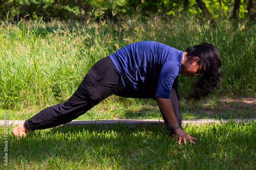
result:
[[[199,58],[193,57],[186,59],[185,63],[181,65],[181,75],[194,77],[200,73]]]

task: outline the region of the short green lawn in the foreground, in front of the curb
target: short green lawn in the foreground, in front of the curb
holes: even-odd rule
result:
[[[4,127],[0,127],[4,148]],[[255,169],[256,122],[187,125],[179,145],[162,125],[56,127],[8,139],[9,169]],[[9,128],[11,134],[11,128]],[[3,147],[2,147],[3,145]],[[0,167],[7,169],[0,151]]]

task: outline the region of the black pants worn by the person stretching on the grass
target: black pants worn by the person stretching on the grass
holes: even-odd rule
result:
[[[67,102],[48,107],[30,119],[25,125],[28,130],[47,129],[71,122],[86,113],[99,102],[114,94],[128,98],[154,98],[156,83],[148,83],[138,90],[127,90],[120,80],[120,72],[115,68],[110,57],[96,62],[87,72],[83,81]],[[181,116],[175,90],[172,89],[171,101],[176,117],[181,125]],[[163,116],[168,130],[170,126]]]

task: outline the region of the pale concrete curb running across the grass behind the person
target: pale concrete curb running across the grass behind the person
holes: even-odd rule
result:
[[[185,126],[186,124],[207,124],[207,123],[227,123],[229,121],[232,122],[250,122],[255,121],[256,118],[238,118],[238,119],[182,119],[182,124]],[[1,125],[9,125],[9,126],[16,126],[24,124],[25,120],[0,120]],[[158,125],[164,124],[163,119],[111,119],[111,120],[73,120],[72,122],[66,125],[83,125],[83,126],[91,126],[91,125],[115,125],[115,124],[125,124],[125,125]]]

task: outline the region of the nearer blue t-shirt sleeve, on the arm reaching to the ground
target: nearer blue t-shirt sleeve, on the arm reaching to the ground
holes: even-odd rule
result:
[[[170,89],[174,85],[176,79],[180,72],[180,65],[177,61],[167,61],[163,64],[155,97],[169,99]]]

